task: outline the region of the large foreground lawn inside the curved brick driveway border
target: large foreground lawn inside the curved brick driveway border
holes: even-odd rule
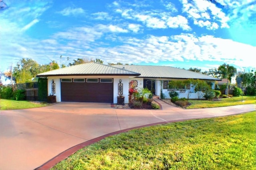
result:
[[[255,169],[255,112],[140,128],[86,146],[52,169]]]

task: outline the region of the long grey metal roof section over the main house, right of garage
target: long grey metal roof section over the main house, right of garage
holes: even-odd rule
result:
[[[179,69],[169,66],[155,66],[155,65],[114,65],[117,68],[140,73],[138,77],[148,78],[174,78],[174,79],[204,79],[204,80],[221,80],[215,77],[210,77],[194,71]]]

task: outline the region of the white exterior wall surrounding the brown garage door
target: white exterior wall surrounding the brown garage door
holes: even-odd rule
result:
[[[112,78],[113,79],[113,103],[117,103],[118,97],[118,83],[119,79],[122,80],[123,83],[123,95],[124,95],[124,103],[129,102],[129,77],[128,76],[54,76],[48,77],[48,95],[52,94],[52,80],[55,83],[55,93],[56,101],[61,102],[61,92],[60,92],[60,79],[71,79],[71,78]],[[131,78],[132,79],[132,78]],[[138,81],[139,84],[139,81]],[[143,87],[143,79],[142,79],[142,87]]]

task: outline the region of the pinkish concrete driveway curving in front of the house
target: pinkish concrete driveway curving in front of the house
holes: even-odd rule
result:
[[[109,103],[61,102],[36,109],[1,111],[0,170],[32,170],[72,146],[127,128],[256,110],[256,105],[180,109],[155,100],[162,105],[162,110],[113,109]]]

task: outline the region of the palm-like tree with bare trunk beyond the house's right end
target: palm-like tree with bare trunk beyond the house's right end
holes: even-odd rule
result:
[[[236,75],[236,68],[228,65],[226,63],[220,65],[218,67],[219,74],[222,79],[228,79],[231,82],[232,77]],[[227,80],[227,92],[226,95],[228,95],[228,80]]]

